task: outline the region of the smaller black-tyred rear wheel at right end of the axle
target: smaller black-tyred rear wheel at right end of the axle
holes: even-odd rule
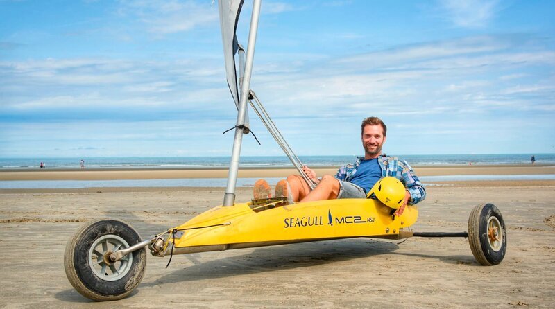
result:
[[[477,205],[468,218],[468,242],[481,265],[497,265],[507,250],[507,234],[501,212],[494,204]]]

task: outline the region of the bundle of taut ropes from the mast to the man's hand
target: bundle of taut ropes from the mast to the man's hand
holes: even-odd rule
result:
[[[272,118],[270,118],[270,115],[268,114],[268,112],[266,112],[266,109],[264,109],[264,105],[262,105],[262,103],[256,96],[255,91],[253,91],[253,89],[249,89],[249,94],[250,96],[248,98],[248,102],[250,103],[250,106],[253,107],[262,123],[264,123],[264,125],[266,126],[266,129],[268,129],[268,132],[272,134],[273,139],[275,139],[278,145],[280,145],[283,152],[285,152],[285,155],[287,155],[293,166],[295,166],[302,178],[305,179],[305,182],[307,182],[311,189],[314,189],[316,187],[316,183],[312,179],[310,179],[302,170],[302,163],[300,162],[300,159],[296,156],[295,152],[293,152],[291,146],[289,146],[287,141],[285,141],[280,130],[278,130],[278,127],[275,126]],[[255,103],[253,103],[253,100],[255,100],[256,105]]]

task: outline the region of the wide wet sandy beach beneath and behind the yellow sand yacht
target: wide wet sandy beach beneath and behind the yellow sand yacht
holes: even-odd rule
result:
[[[415,170],[418,175],[555,173],[552,166]],[[156,179],[206,173],[3,171],[0,179]],[[240,177],[287,173],[242,170]],[[227,171],[209,174],[226,177]],[[149,236],[221,204],[223,192],[190,187],[1,190],[0,307],[552,308],[555,303],[555,181],[550,180],[444,182],[427,188],[427,199],[418,204],[416,231],[466,231],[473,206],[491,202],[499,207],[508,250],[496,266],[479,265],[464,238],[410,238],[402,243],[357,238],[174,256],[167,269],[167,257],[148,255],[142,283],[130,297],[114,303],[89,301],[67,281],[65,245],[83,222],[119,218]],[[250,188],[238,188],[237,201],[250,195]]]

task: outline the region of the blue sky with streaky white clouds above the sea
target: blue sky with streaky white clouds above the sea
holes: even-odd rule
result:
[[[216,0],[218,1],[218,0]],[[247,46],[252,3],[237,29]],[[555,1],[268,1],[250,88],[298,155],[555,152]],[[0,157],[229,156],[212,0],[0,0]],[[241,154],[281,155],[250,111]]]

